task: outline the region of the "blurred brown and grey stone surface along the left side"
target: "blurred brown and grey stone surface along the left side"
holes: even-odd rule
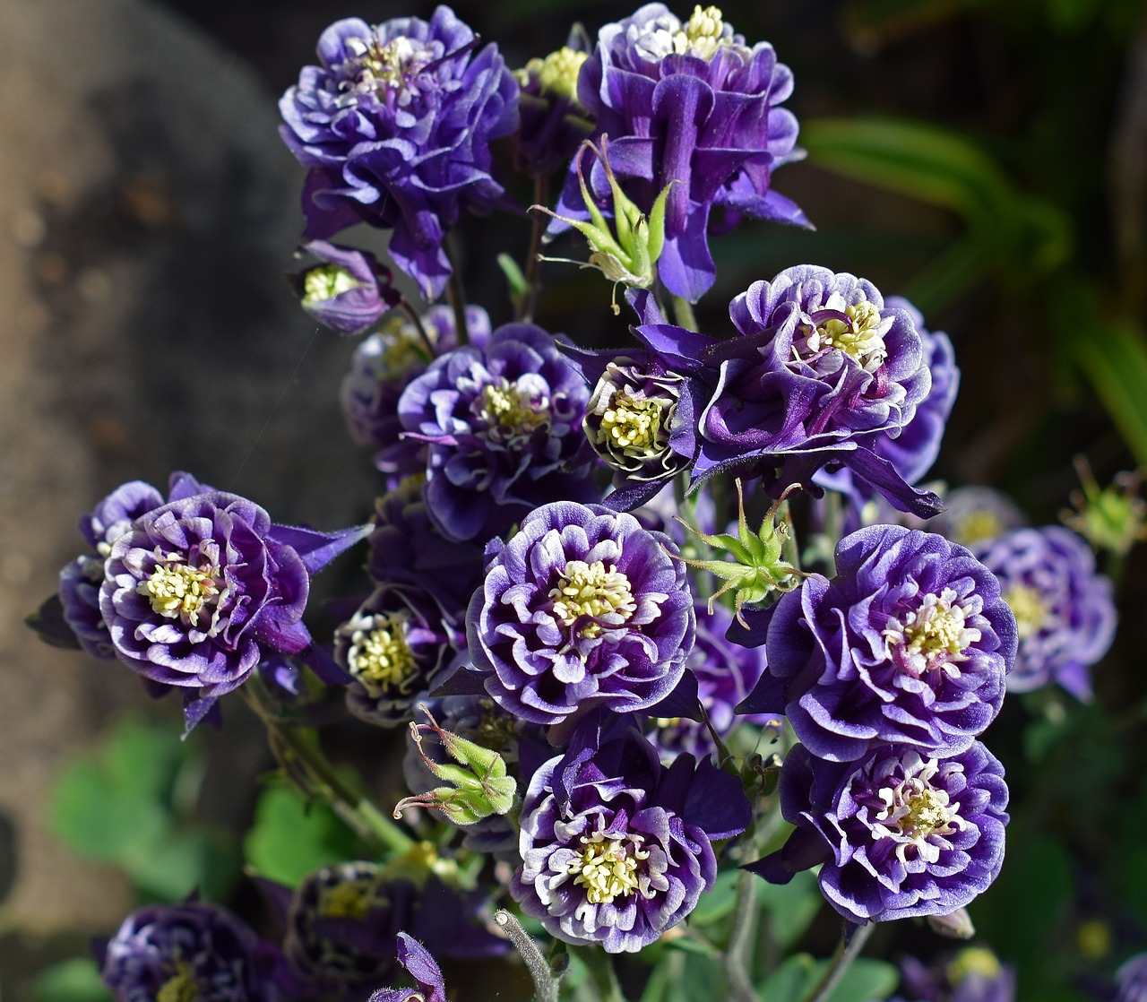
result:
[[[44,816],[61,766],[147,701],[22,623],[83,547],[77,518],[180,468],[276,521],[369,511],[336,398],[353,342],[281,277],[302,172],[275,130],[274,95],[143,0],[0,0],[0,929],[108,932],[131,907]]]

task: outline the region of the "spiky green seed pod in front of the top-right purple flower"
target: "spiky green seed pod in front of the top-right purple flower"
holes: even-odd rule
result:
[[[582,199],[585,202],[590,220],[569,219],[552,212],[545,205],[531,205],[530,209],[553,216],[569,226],[577,230],[590,241],[590,261],[583,267],[595,267],[607,279],[614,283],[614,300],[611,303],[615,313],[621,312],[617,305],[617,286],[625,285],[639,289],[647,289],[657,278],[657,258],[665,246],[665,202],[674,181],[666,185],[656,201],[653,203],[648,217],[642,212],[637,203],[629,197],[609,165],[608,137],[601,137],[601,149],[598,149],[591,140],[582,143],[577,158],[574,162],[577,171],[578,184],[582,186]],[[586,150],[592,150],[601,163],[609,181],[609,188],[614,199],[612,228],[606,219],[596,200],[586,185],[585,176],[582,172],[582,158]],[[547,258],[553,259],[553,258]]]

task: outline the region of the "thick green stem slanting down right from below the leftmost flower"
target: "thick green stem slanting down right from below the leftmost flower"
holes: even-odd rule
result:
[[[379,810],[372,800],[360,797],[340,778],[318,743],[305,740],[295,724],[276,719],[257,683],[249,682],[242,692],[267,729],[267,739],[276,761],[304,794],[322,800],[372,845],[396,853],[406,853],[414,847],[414,839]]]

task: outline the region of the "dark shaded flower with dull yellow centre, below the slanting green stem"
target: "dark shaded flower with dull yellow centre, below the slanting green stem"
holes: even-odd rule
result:
[[[374,863],[336,863],[295,890],[283,950],[312,991],[377,987],[393,973],[400,930],[443,956],[502,953],[504,942],[474,924],[476,908],[429,875],[415,884]]]

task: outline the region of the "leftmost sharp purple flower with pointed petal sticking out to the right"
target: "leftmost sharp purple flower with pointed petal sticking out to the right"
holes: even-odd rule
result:
[[[310,576],[368,531],[272,525],[262,507],[224,491],[150,510],[104,565],[100,613],[116,654],[153,683],[181,689],[193,727],[259,661],[309,651]]]

